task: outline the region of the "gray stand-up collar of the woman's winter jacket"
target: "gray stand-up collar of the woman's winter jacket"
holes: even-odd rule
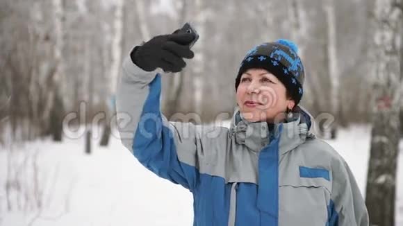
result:
[[[311,116],[306,110],[297,107],[294,117],[288,122],[269,124],[265,121],[249,122],[242,117],[239,107],[236,107],[231,119],[230,131],[237,144],[244,144],[254,152],[260,152],[268,146],[271,139],[280,139],[280,155],[293,150],[304,143],[307,137],[314,137],[309,132]],[[282,127],[281,130],[279,128]],[[280,134],[279,134],[279,131]]]

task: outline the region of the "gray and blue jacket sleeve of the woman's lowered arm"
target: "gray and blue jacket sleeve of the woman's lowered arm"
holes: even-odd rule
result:
[[[352,171],[341,157],[336,165],[328,209],[329,225],[368,226],[368,211]]]

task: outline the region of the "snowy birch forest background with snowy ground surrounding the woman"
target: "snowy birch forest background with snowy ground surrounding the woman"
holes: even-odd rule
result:
[[[343,149],[371,224],[403,225],[402,0],[0,0],[1,226],[192,224],[190,196],[132,166],[115,125],[124,58],[188,21],[200,37],[163,76],[167,119],[230,120],[245,53],[293,40],[315,134]],[[140,204],[151,184],[181,197],[169,216]]]

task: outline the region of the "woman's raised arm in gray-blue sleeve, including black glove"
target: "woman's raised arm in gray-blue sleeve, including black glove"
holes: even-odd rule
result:
[[[192,123],[173,123],[161,113],[161,69],[180,71],[192,58],[186,35],[161,35],[136,46],[123,63],[117,87],[117,124],[122,144],[156,175],[192,190],[202,157]]]

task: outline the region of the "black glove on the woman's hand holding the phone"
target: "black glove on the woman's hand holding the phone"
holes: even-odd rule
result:
[[[194,38],[189,33],[153,37],[142,46],[135,46],[130,53],[131,61],[145,71],[159,67],[164,71],[179,72],[186,67],[183,58],[194,56],[188,46]]]

